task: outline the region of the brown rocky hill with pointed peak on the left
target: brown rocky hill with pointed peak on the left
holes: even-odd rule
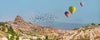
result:
[[[57,28],[53,28],[51,26],[40,26],[36,24],[32,24],[30,22],[26,22],[21,16],[16,16],[14,21],[8,21],[8,22],[0,22],[0,31],[6,33],[8,36],[9,34],[12,35],[12,33],[9,33],[9,31],[14,32],[14,34],[22,35],[22,36],[46,36],[50,35],[52,36],[58,36],[63,35],[64,33],[68,33],[66,30],[60,30]],[[9,30],[12,29],[12,30]],[[51,36],[52,35],[52,36]],[[5,37],[6,37],[5,36]],[[16,35],[15,35],[16,36]],[[31,38],[31,37],[29,37]],[[54,38],[54,37],[53,37]]]

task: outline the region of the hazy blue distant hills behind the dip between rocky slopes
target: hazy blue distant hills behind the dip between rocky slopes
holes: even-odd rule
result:
[[[23,17],[22,17],[23,18]],[[26,21],[24,18],[23,18],[24,21]],[[15,21],[15,18],[13,20],[9,20],[9,21]],[[2,22],[2,21],[0,21]],[[8,21],[3,21],[3,22],[8,22]],[[54,27],[54,28],[58,28],[58,29],[62,29],[62,30],[72,30],[74,28],[81,28],[83,26],[86,26],[86,25],[91,25],[91,23],[65,23],[65,22],[39,22],[39,23],[34,23],[32,21],[26,21],[26,22],[31,22],[32,24],[37,24],[37,25],[40,25],[40,26],[51,26],[51,27]],[[95,23],[95,24],[100,24],[100,23]]]

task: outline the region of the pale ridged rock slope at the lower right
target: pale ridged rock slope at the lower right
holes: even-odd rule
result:
[[[100,40],[100,25],[90,25],[73,30],[66,36],[67,40]]]

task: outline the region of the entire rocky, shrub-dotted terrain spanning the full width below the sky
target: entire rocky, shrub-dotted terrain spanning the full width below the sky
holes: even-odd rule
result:
[[[61,30],[26,22],[21,16],[0,22],[0,40],[100,40],[100,25]]]

